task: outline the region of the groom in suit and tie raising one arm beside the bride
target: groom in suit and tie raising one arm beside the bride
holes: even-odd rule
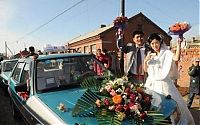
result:
[[[136,30],[132,34],[132,43],[124,44],[123,34],[118,34],[117,47],[126,53],[124,73],[134,83],[145,83],[147,73],[143,70],[143,60],[150,47],[144,42],[144,33]],[[121,37],[120,37],[121,36]]]

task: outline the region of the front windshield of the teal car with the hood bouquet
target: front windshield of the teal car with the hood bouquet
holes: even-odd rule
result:
[[[38,92],[77,87],[88,76],[101,77],[108,71],[93,56],[42,60],[36,66]]]

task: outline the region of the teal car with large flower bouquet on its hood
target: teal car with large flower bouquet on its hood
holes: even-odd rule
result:
[[[8,88],[13,117],[22,115],[27,124],[97,124],[94,117],[71,115],[76,101],[85,92],[80,87],[83,79],[102,78],[95,70],[97,67],[102,73],[107,71],[93,55],[81,53],[19,59]],[[66,112],[59,109],[61,104]]]

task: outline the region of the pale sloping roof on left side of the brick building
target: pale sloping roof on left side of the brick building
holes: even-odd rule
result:
[[[98,28],[98,29],[95,30],[95,31],[86,33],[86,34],[84,34],[84,35],[80,35],[80,36],[78,36],[78,37],[76,37],[76,38],[74,38],[74,39],[68,41],[67,43],[71,44],[71,43],[74,43],[74,42],[78,42],[78,41],[80,41],[80,40],[84,40],[84,39],[87,39],[87,38],[90,38],[90,37],[99,35],[99,34],[103,33],[104,31],[106,31],[106,30],[112,28],[113,26],[114,26],[114,25],[111,24],[111,25],[109,25],[109,26],[105,26],[105,27],[102,27],[102,28]]]

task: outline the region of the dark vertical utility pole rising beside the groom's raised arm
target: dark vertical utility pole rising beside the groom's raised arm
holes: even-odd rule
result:
[[[121,16],[125,16],[125,0],[121,0]],[[124,41],[124,36],[122,37]],[[120,69],[121,73],[124,74],[124,53],[120,51]]]

